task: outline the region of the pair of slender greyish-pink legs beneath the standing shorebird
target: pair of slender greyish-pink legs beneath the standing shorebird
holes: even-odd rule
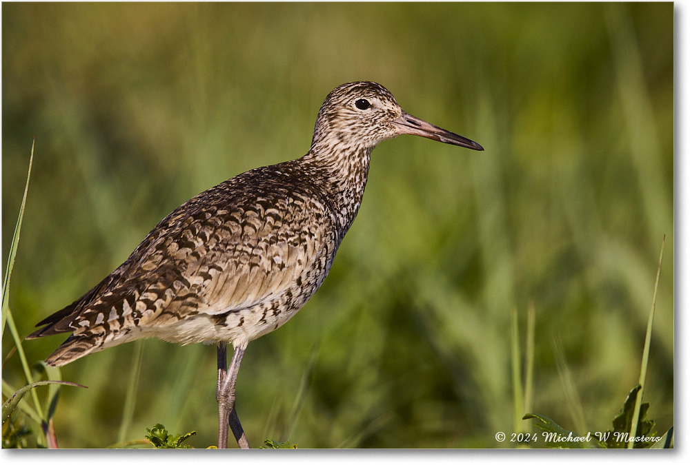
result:
[[[237,382],[237,371],[242,362],[242,355],[247,344],[237,344],[233,353],[233,360],[230,366],[227,365],[227,346],[224,343],[218,344],[218,384],[216,387],[216,400],[218,401],[218,448],[228,446],[228,425],[233,431],[235,440],[239,448],[249,448],[249,442],[242,424],[239,423],[237,410],[235,409],[235,383]]]

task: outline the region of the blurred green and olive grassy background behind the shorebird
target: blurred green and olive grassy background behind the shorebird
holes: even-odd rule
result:
[[[302,156],[326,94],[372,80],[486,150],[375,149],[324,286],[249,344],[251,444],[515,446],[494,435],[515,431],[510,313],[524,354],[529,302],[531,410],[611,428],[664,234],[644,398],[660,433],[673,425],[672,3],[3,3],[2,42],[3,269],[36,137],[10,291],[21,335],[191,196]],[[62,340],[23,345],[33,362]],[[21,386],[13,345],[5,331],[3,379]],[[134,349],[62,370],[89,389],[62,389],[60,446],[117,442]],[[215,376],[214,347],[144,342],[126,437],[161,422],[215,444]]]

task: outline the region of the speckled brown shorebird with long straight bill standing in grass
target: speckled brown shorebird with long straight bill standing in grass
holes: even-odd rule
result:
[[[372,149],[401,134],[483,150],[404,112],[380,84],[339,85],[319,110],[306,155],[250,169],[180,205],[27,339],[72,333],[46,359],[53,366],[140,338],[216,344],[218,447],[227,447],[229,425],[248,448],[235,409],[247,344],[284,324],[322,285],[357,216]]]

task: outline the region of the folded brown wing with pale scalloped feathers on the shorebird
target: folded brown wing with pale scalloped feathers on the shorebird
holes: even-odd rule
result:
[[[239,189],[236,179],[172,211],[120,267],[28,338],[73,332],[112,340],[137,327],[252,307],[295,285],[322,260],[326,207],[280,187]]]

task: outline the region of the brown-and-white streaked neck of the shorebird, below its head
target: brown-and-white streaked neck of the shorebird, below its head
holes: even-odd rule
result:
[[[335,214],[345,231],[352,225],[362,203],[371,150],[372,147],[363,145],[345,145],[337,141],[323,145],[315,141],[302,157],[319,173],[315,177],[333,202]]]

